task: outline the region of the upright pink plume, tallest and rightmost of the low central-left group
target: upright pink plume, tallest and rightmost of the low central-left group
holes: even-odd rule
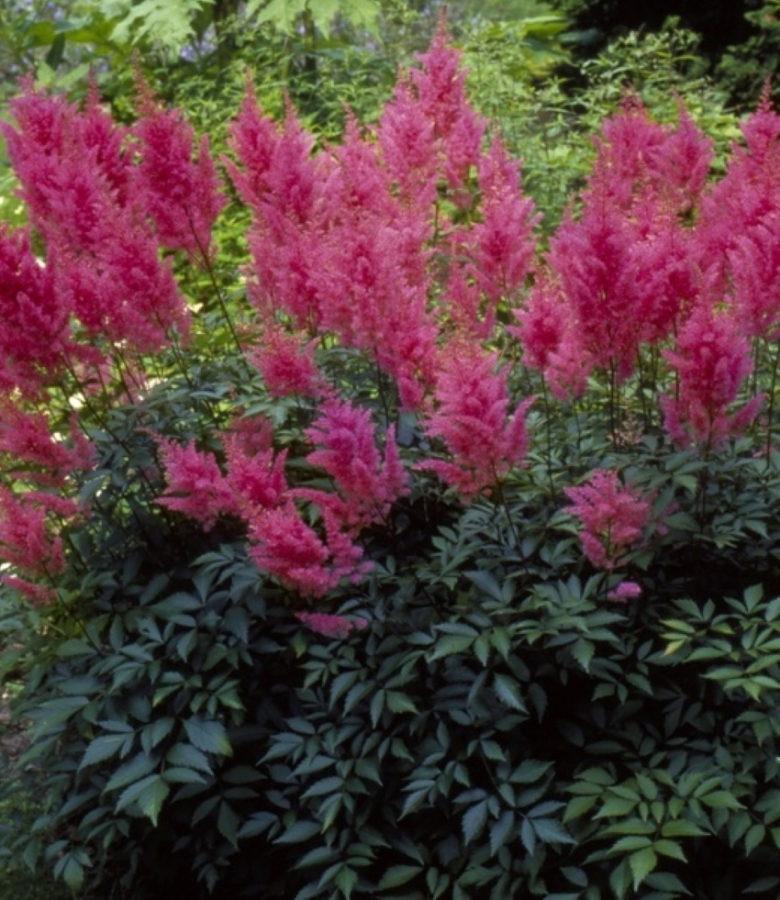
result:
[[[306,431],[316,446],[306,460],[324,469],[338,490],[336,498],[309,496],[328,507],[347,529],[384,519],[393,503],[409,491],[407,474],[395,444],[395,430],[387,430],[384,460],[376,446],[371,412],[345,400],[331,399],[320,408]]]

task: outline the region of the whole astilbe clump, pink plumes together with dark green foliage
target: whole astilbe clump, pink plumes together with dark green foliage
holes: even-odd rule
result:
[[[65,659],[98,659],[65,687],[44,679],[73,705],[42,740],[77,732],[58,784],[109,829],[121,821],[79,820],[78,840],[115,852],[150,834],[145,816],[194,848],[214,885],[257,839],[263,867],[290,863],[290,884],[318,871],[300,896],[414,879],[420,894],[545,896],[563,878],[584,887],[587,869],[623,897],[659,865],[651,845],[721,835],[725,819],[671,814],[682,756],[706,768],[721,748],[700,752],[712,691],[689,697],[657,641],[672,601],[706,591],[686,554],[720,565],[715,547],[738,568],[740,553],[758,558],[745,523],[767,544],[775,528],[760,517],[771,497],[754,491],[749,516],[734,500],[774,465],[768,100],[713,180],[712,145],[684,109],[661,124],[627,97],[540,251],[520,164],[468,103],[444,26],[378,122],[348,114],[335,145],[290,104],[273,121],[249,84],[222,159],[249,218],[245,265],[228,274],[230,188],[208,142],[138,93],[125,127],[94,88],[80,106],[26,83],[1,126],[29,227],[0,231],[0,577],[50,605]],[[752,458],[757,438],[766,459]],[[647,672],[662,665],[656,697]],[[749,683],[754,699],[769,689]],[[681,714],[685,698],[695,714]],[[451,739],[453,723],[468,739]],[[241,761],[223,784],[229,732]],[[586,741],[613,760],[591,793]],[[669,802],[653,808],[658,827],[641,813],[629,833],[648,843],[626,853],[652,858],[613,866],[626,845],[592,844],[623,834],[623,807],[588,810],[634,774],[648,802],[658,776]],[[640,796],[620,790],[624,805]],[[564,823],[567,791],[590,805],[567,806]],[[751,822],[734,832],[764,827]],[[410,847],[419,870],[395,862]],[[393,866],[375,871],[385,853]],[[89,856],[67,854],[76,885]]]

